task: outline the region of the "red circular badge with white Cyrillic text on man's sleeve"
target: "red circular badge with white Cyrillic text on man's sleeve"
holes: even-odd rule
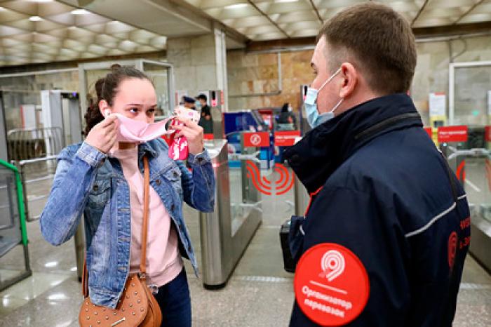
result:
[[[335,243],[309,248],[297,264],[293,284],[300,309],[321,326],[341,326],[354,320],[370,293],[361,261]]]

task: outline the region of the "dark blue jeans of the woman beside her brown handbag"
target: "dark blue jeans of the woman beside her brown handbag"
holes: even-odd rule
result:
[[[186,271],[159,288],[155,299],[162,312],[161,327],[191,327],[191,298]]]

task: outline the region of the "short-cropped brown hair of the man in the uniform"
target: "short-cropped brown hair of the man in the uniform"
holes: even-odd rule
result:
[[[322,36],[331,74],[342,62],[351,62],[380,95],[409,90],[417,60],[415,36],[393,9],[374,2],[351,6],[325,22],[317,40]]]

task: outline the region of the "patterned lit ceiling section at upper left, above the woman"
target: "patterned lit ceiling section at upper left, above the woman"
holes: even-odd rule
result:
[[[77,9],[59,1],[0,1],[1,65],[166,48],[164,35]]]

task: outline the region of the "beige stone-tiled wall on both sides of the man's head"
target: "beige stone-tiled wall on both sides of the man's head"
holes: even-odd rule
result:
[[[451,43],[453,62],[491,60],[491,36],[455,39]],[[445,92],[448,95],[449,41],[419,42],[417,51],[418,62],[411,97],[424,123],[428,124],[429,93]],[[278,90],[277,54],[227,52],[229,109],[281,107],[284,102],[290,102],[297,110],[300,107],[300,85],[309,84],[314,79],[310,67],[312,53],[313,51],[281,53],[283,89],[279,95],[237,97]]]

